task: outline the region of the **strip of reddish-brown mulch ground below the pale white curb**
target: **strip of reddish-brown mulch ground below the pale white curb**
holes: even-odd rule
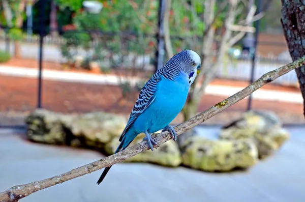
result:
[[[0,111],[32,110],[37,104],[37,79],[0,76]],[[87,112],[105,110],[116,113],[130,113],[137,93],[129,99],[122,98],[121,89],[113,85],[98,85],[43,80],[43,107],[62,112]],[[205,95],[199,111],[217,104],[225,96]],[[247,99],[244,99],[227,110],[244,110]],[[300,113],[302,104],[253,100],[253,107],[276,112]]]

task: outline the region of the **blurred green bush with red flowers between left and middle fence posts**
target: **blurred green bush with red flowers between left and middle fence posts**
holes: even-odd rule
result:
[[[100,14],[91,14],[79,10],[75,13],[73,24],[75,31],[69,31],[63,36],[67,42],[61,47],[62,54],[69,61],[73,61],[73,51],[76,48],[93,48],[93,55],[88,55],[88,60],[102,61],[105,58],[105,51],[111,54],[123,56],[126,53],[135,52],[143,54],[154,49],[154,37],[144,37],[145,33],[153,34],[153,26],[141,22],[139,16],[145,16],[147,23],[157,20],[157,1],[143,4],[140,0],[131,4],[129,1],[104,1]],[[136,5],[136,6],[135,6]],[[137,9],[135,12],[134,9]],[[147,13],[148,12],[148,13]],[[153,24],[155,25],[155,24]],[[99,32],[108,33],[101,36]],[[120,35],[121,32],[129,32],[135,36]],[[82,34],[81,34],[82,33]],[[113,34],[110,34],[113,33]],[[110,35],[109,35],[110,34]],[[99,43],[92,41],[98,39]],[[112,60],[113,66],[117,61]]]

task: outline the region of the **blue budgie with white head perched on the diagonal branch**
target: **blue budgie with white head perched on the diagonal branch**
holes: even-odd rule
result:
[[[145,133],[143,140],[152,151],[157,142],[151,138],[151,133],[168,130],[176,140],[177,134],[169,124],[183,108],[200,65],[200,56],[196,52],[182,50],[145,83],[114,153],[125,150],[140,133]],[[110,168],[105,168],[97,184],[103,181]]]

